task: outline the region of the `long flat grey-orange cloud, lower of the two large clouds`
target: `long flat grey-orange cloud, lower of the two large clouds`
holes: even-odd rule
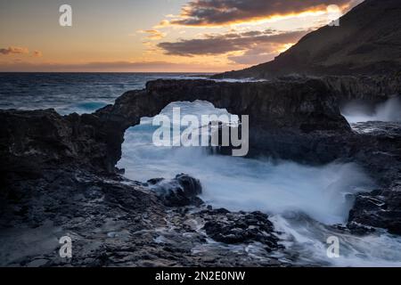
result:
[[[217,55],[232,52],[245,52],[263,46],[264,51],[272,53],[279,45],[296,43],[307,34],[306,30],[277,32],[271,29],[264,31],[247,31],[228,34],[208,34],[200,39],[183,39],[177,42],[160,43],[160,47],[168,55],[194,56]]]

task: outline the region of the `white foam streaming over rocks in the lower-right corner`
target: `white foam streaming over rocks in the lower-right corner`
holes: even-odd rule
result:
[[[335,231],[298,213],[275,215],[271,218],[277,231],[282,232],[282,244],[289,254],[298,255],[298,265],[340,267],[399,267],[401,266],[401,238],[386,232],[367,236]],[[340,240],[340,256],[326,254],[328,237]]]

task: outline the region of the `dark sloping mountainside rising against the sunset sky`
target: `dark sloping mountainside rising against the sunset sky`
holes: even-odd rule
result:
[[[274,61],[215,77],[378,75],[401,70],[401,1],[366,0]]]

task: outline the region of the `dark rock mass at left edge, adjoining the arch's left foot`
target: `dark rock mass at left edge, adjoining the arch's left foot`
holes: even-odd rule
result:
[[[62,117],[55,110],[0,110],[0,121],[2,174],[40,174],[43,167],[65,165],[115,171],[108,153],[122,138],[111,138],[107,126],[93,115]]]

